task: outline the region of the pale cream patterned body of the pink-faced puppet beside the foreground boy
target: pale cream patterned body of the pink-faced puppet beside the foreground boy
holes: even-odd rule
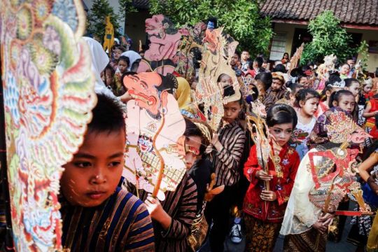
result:
[[[154,120],[148,116],[146,110],[141,109],[134,100],[127,103],[128,151],[125,155],[123,176],[138,189],[153,193],[160,169],[157,149],[165,162],[159,200],[165,200],[166,190],[176,189],[186,172],[183,156],[178,151],[180,138],[185,131],[185,121],[172,94],[168,94],[167,101],[164,125],[162,120]],[[154,148],[152,139],[161,126],[162,130],[156,138]]]

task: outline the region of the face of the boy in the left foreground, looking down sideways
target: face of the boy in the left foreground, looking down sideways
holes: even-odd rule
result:
[[[62,193],[73,205],[96,207],[116,190],[123,172],[125,132],[89,132],[64,165]]]

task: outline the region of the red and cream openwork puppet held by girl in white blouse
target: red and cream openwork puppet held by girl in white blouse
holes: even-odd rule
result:
[[[310,191],[310,201],[323,209],[333,212],[344,195],[351,193],[360,210],[369,209],[363,204],[362,190],[356,179],[355,165],[358,149],[347,148],[348,143],[362,143],[369,135],[358,127],[343,111],[334,111],[326,125],[328,137],[334,144],[342,146],[318,146],[318,151],[309,153],[308,169],[311,170],[315,188]]]

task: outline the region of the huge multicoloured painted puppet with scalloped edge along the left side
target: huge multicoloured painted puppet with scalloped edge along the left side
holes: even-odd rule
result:
[[[1,64],[13,239],[61,249],[59,178],[96,102],[80,1],[1,1]]]

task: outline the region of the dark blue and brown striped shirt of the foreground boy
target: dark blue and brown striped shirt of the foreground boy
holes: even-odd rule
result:
[[[66,251],[155,251],[146,206],[125,188],[116,188],[98,207],[60,201]]]

